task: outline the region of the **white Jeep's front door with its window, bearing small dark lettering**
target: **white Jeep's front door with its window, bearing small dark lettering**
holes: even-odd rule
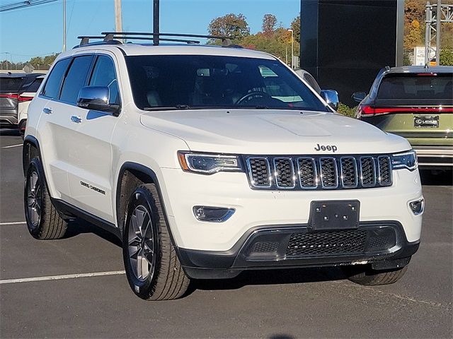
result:
[[[96,57],[88,85],[107,86],[110,103],[120,105],[120,91],[115,56]],[[115,223],[112,201],[112,145],[113,130],[118,118],[111,113],[77,107],[77,146],[69,166],[69,186],[74,206]]]

